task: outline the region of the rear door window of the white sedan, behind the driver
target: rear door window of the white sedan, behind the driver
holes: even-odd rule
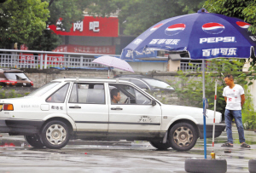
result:
[[[103,84],[73,84],[69,103],[105,104]]]

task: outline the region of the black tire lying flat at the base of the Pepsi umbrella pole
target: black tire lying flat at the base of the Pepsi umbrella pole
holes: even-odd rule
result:
[[[224,173],[227,171],[227,160],[186,159],[185,170],[187,172]]]

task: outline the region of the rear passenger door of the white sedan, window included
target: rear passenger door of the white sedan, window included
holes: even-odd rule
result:
[[[103,83],[74,83],[67,114],[77,126],[77,136],[93,139],[108,133],[108,105]]]

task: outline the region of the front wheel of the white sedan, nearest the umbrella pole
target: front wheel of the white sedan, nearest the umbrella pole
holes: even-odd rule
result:
[[[175,124],[168,135],[171,147],[177,151],[188,151],[195,146],[197,138],[195,127],[189,123]]]

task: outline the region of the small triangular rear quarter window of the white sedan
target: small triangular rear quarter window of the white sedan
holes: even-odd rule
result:
[[[54,94],[50,95],[46,102],[52,102],[52,103],[64,103],[66,95],[67,95],[67,89],[69,84],[65,84],[61,87],[61,89],[58,89]]]

